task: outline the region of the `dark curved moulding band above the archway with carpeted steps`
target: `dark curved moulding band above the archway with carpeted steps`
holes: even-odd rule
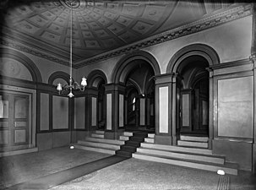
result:
[[[124,82],[128,72],[135,66],[136,60],[144,60],[150,63],[153,68],[155,75],[161,74],[161,70],[155,57],[153,57],[149,52],[136,51],[122,57],[115,66],[111,81],[112,83]],[[134,61],[134,62],[133,62]]]

